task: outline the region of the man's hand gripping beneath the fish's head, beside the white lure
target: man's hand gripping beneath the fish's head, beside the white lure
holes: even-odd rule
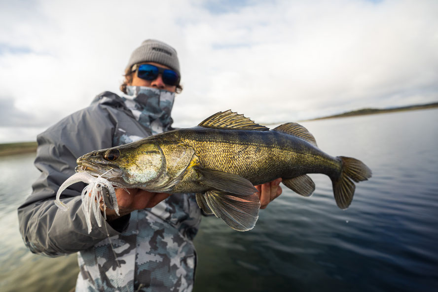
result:
[[[168,193],[151,193],[140,188],[128,188],[127,190],[129,193],[122,188],[115,189],[120,216],[127,215],[134,210],[152,208],[171,195]],[[104,212],[102,202],[100,207],[101,211]],[[105,213],[109,221],[119,217],[114,210],[109,208],[105,209]]]

